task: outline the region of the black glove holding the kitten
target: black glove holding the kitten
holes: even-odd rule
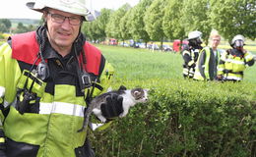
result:
[[[123,97],[112,93],[106,96],[106,102],[100,105],[102,116],[107,120],[123,113]]]

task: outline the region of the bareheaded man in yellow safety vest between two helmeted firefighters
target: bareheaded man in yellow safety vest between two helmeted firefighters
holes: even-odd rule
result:
[[[217,66],[220,60],[220,51],[217,49],[221,35],[213,33],[211,35],[211,47],[204,47],[198,57],[194,79],[214,80],[217,79]]]

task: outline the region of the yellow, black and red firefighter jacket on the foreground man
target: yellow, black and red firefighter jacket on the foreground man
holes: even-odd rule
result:
[[[81,88],[78,70],[90,76],[97,95],[108,87],[113,69],[83,37],[69,55],[61,57],[47,39],[40,47],[38,38],[42,36],[38,30],[17,34],[0,47],[0,115],[7,155],[75,157],[85,144],[87,131],[78,130],[83,126],[85,99],[92,91],[92,87]],[[45,80],[34,73],[41,62],[41,49],[49,69]],[[21,114],[18,104],[25,89],[33,98]]]

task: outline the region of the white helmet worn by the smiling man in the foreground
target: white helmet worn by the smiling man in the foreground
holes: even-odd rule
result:
[[[63,12],[68,12],[83,16],[86,21],[93,21],[92,13],[86,8],[86,0],[36,0],[28,2],[27,6],[37,12],[42,12],[44,8],[52,8]]]

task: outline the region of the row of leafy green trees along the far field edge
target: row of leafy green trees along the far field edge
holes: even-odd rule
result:
[[[256,37],[255,0],[141,0],[118,10],[101,9],[96,21],[82,31],[93,41],[113,37],[149,42],[184,39],[192,30],[203,32],[207,43],[212,29],[227,40],[242,34]]]

